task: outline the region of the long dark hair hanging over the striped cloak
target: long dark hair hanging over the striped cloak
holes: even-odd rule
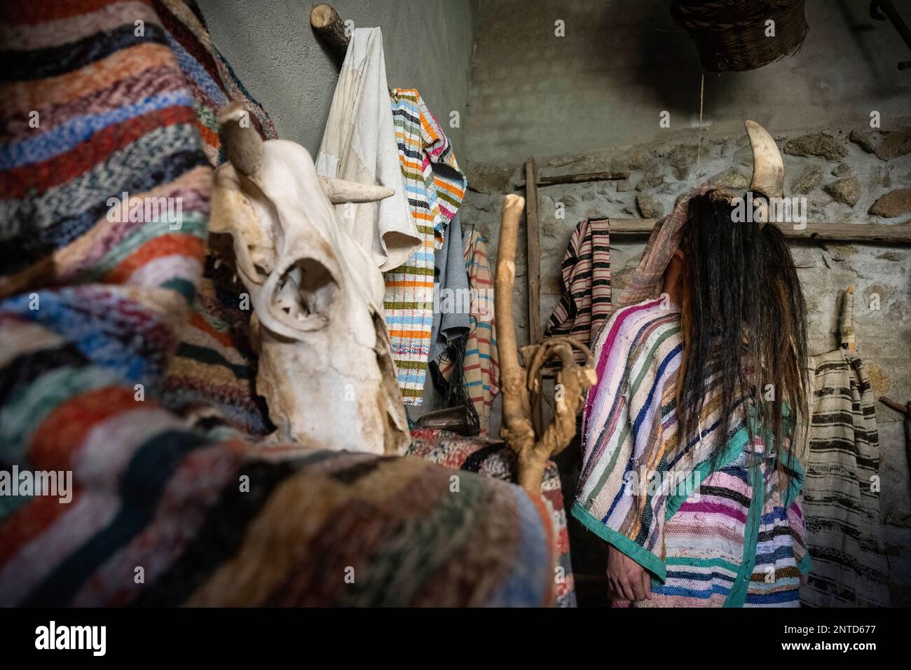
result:
[[[804,292],[781,230],[736,222],[733,211],[718,191],[694,196],[682,232],[680,437],[699,438],[706,390],[718,384],[722,444],[743,404],[751,448],[754,428],[771,433],[781,465],[783,437],[794,441],[807,407]]]

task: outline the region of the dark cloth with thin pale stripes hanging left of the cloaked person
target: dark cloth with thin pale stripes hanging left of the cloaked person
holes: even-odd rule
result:
[[[610,316],[610,222],[585,219],[563,256],[563,294],[550,314],[545,337],[571,335],[585,345]]]

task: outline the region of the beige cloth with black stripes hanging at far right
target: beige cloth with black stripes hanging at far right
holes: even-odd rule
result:
[[[814,407],[804,491],[813,607],[887,607],[889,572],[880,517],[879,438],[864,363],[835,349],[814,356]]]

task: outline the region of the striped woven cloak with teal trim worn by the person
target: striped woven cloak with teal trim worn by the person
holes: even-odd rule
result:
[[[742,405],[721,435],[715,381],[699,438],[683,444],[682,348],[680,310],[661,298],[622,307],[601,328],[573,515],[651,573],[652,600],[634,604],[796,606],[809,569],[803,469],[786,459],[782,490],[767,436],[748,444]]]

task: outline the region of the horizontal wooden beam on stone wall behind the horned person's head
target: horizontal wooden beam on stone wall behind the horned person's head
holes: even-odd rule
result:
[[[610,218],[610,235],[648,235],[655,219]],[[860,242],[911,244],[911,222],[896,223],[807,223],[804,230],[795,231],[792,223],[775,223],[788,240],[813,242]]]

